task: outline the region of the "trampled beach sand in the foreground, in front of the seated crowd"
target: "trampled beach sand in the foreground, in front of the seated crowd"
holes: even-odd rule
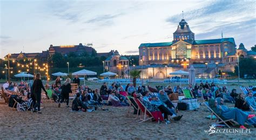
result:
[[[1,102],[3,102],[0,99]],[[71,104],[71,103],[70,103]],[[233,106],[232,104],[228,104]],[[180,121],[170,124],[157,122],[138,123],[134,115],[127,115],[128,107],[104,107],[109,111],[96,110],[92,113],[70,112],[65,104],[58,108],[57,103],[43,100],[42,114],[31,111],[12,110],[7,104],[0,104],[0,139],[210,139],[210,138],[255,138],[256,128],[251,134],[208,136],[210,115],[201,105],[198,111],[179,111]],[[239,128],[238,125],[232,128]]]

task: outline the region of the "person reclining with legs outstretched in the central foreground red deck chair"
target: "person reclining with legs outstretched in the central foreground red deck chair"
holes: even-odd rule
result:
[[[161,113],[164,114],[164,119],[165,119],[165,120],[168,120],[168,115],[170,115],[171,118],[173,118],[173,119],[176,120],[176,121],[179,121],[180,118],[182,117],[182,116],[177,116],[177,115],[173,114],[173,113],[166,107],[165,103],[163,103],[163,102],[157,100],[157,96],[156,96],[156,95],[152,95],[151,99],[152,99],[152,100],[151,100],[151,104],[154,104],[154,105],[156,105],[156,106],[158,107],[158,109],[161,111]],[[167,122],[170,123],[170,121],[167,121]]]

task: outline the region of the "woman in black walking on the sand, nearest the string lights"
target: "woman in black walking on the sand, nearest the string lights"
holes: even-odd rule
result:
[[[33,112],[36,112],[36,108],[38,108],[38,113],[41,114],[41,111],[40,111],[40,104],[41,104],[41,93],[42,93],[42,88],[45,92],[45,94],[47,95],[47,92],[43,86],[43,82],[41,81],[41,75],[40,73],[37,73],[36,74],[36,79],[34,80],[33,82],[33,85],[32,85],[32,93],[33,93],[33,96],[34,96],[34,104],[35,106],[33,107]]]

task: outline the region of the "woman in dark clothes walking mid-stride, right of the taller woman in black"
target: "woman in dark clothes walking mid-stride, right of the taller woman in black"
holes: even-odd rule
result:
[[[63,103],[66,100],[66,107],[69,107],[69,93],[72,93],[71,85],[70,85],[70,78],[67,78],[64,84],[62,85],[62,92],[60,93],[62,96],[62,100],[60,100],[58,107],[60,108],[60,103]]]

